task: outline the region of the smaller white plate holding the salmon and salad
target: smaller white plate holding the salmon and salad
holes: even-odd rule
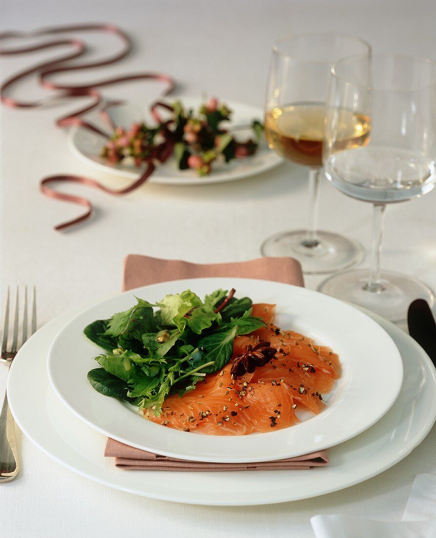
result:
[[[321,413],[278,431],[211,436],[148,421],[136,407],[101,395],[92,388],[86,374],[98,367],[93,357],[99,355],[101,349],[84,336],[86,325],[127,310],[136,303],[135,296],[157,302],[166,294],[180,293],[187,288],[202,297],[217,288],[232,287],[236,288],[238,297],[276,303],[277,324],[281,328],[302,332],[339,354],[343,372]],[[403,366],[396,345],[379,324],[328,295],[266,280],[201,278],[136,288],[85,310],[54,339],[48,356],[48,377],[55,393],[74,414],[118,441],[195,461],[256,462],[322,450],[369,428],[396,400]]]

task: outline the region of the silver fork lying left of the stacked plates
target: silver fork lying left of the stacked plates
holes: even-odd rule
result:
[[[32,292],[32,313],[31,313],[31,334],[37,330],[37,302],[35,287]],[[23,301],[23,320],[22,320],[22,334],[21,345],[27,340],[27,286],[24,288],[24,301]],[[3,322],[3,339],[2,339],[2,355],[1,362],[5,363],[8,367],[11,365],[12,360],[17,355],[17,351],[20,348],[18,343],[18,329],[19,329],[19,306],[18,306],[18,286],[15,292],[15,301],[13,309],[13,329],[12,329],[12,343],[8,350],[9,339],[9,286],[8,293],[6,294],[6,305],[4,310],[4,322]],[[13,420],[11,411],[8,405],[8,398],[4,395],[2,413],[0,414],[0,482],[8,482],[13,480],[19,470],[18,458],[17,458],[17,442],[15,438],[15,422]]]

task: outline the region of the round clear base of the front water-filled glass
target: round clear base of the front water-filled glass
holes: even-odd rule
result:
[[[369,270],[355,269],[334,274],[318,286],[318,291],[355,303],[394,323],[404,322],[409,305],[415,299],[434,303],[432,290],[418,279],[394,271],[381,272],[382,291],[365,289]]]

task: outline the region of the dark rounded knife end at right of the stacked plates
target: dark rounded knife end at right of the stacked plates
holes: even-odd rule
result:
[[[410,336],[418,342],[436,366],[436,322],[427,301],[416,299],[410,304],[407,323]]]

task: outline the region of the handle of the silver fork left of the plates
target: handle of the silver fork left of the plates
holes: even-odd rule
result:
[[[0,414],[0,482],[13,480],[18,473],[15,421],[5,393]]]

